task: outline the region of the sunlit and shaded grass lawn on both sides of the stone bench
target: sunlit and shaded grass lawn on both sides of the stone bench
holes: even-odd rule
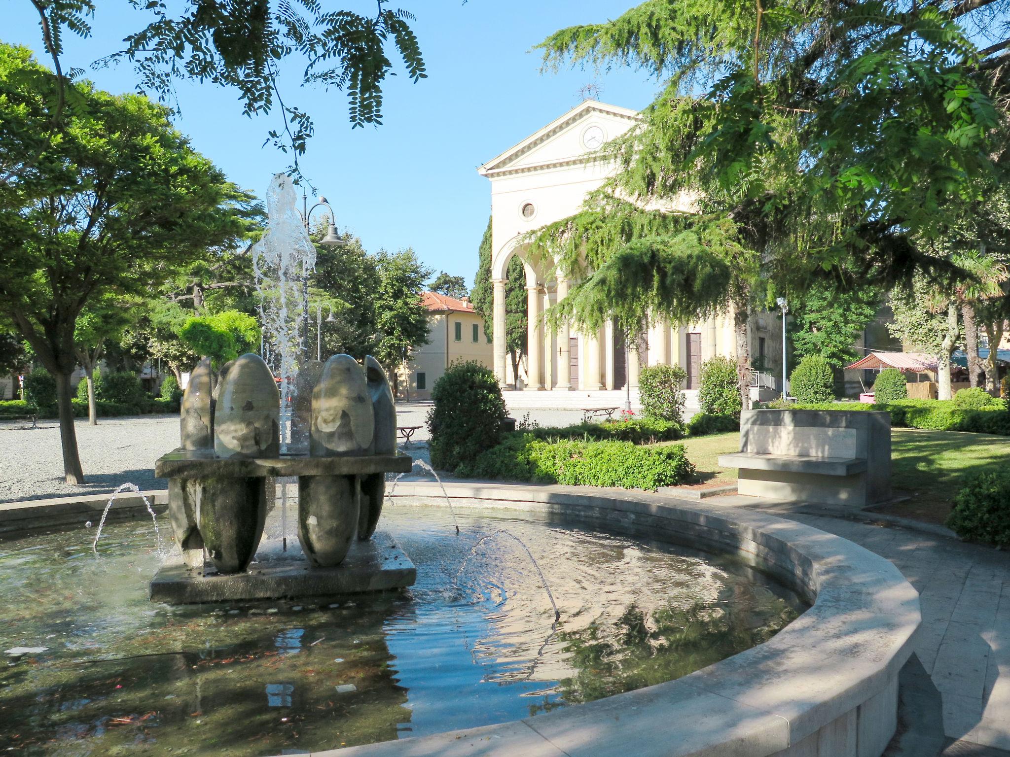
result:
[[[736,468],[719,467],[717,459],[720,454],[739,449],[739,434],[715,434],[676,443],[687,449],[688,459],[698,468],[699,480],[736,480]],[[891,430],[891,460],[895,495],[909,499],[874,510],[943,523],[966,477],[1010,465],[1010,438],[896,428]]]

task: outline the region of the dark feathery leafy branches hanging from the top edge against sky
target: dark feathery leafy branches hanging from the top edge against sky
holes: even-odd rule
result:
[[[61,55],[63,35],[72,31],[91,35],[89,16],[93,0],[31,0],[38,11],[42,43],[53,59],[57,78],[47,89],[53,117],[78,105],[71,84],[74,71],[65,76]],[[272,4],[269,0],[191,0],[182,6],[130,0],[154,20],[123,41],[125,48],[103,64],[126,59],[139,76],[137,90],[159,101],[174,99],[175,83],[191,79],[237,90],[243,113],[270,113],[280,107],[283,128],[273,129],[268,140],[294,154],[305,151],[314,126],[308,113],[288,105],[281,96],[281,65],[300,58],[302,85],[321,84],[347,94],[354,126],[382,123],[382,85],[394,76],[387,57],[390,45],[403,59],[411,81],[427,75],[417,37],[409,21],[414,16],[387,7],[379,0],[374,16],[351,10],[324,9],[321,3]],[[6,177],[4,177],[6,178]]]

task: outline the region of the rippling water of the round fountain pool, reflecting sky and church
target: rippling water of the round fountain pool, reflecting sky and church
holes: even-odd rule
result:
[[[0,650],[46,647],[0,671],[0,749],[261,756],[502,723],[688,674],[805,609],[735,558],[456,517],[459,535],[444,508],[388,507],[416,584],[335,601],[152,604],[142,521],[97,555],[93,530],[0,543]]]

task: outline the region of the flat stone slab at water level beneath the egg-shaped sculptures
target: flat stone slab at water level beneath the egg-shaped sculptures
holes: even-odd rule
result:
[[[150,582],[152,602],[192,605],[204,602],[273,600],[285,597],[329,597],[405,588],[417,569],[389,533],[377,531],[355,540],[338,566],[311,566],[300,554],[252,563],[244,573],[218,573],[187,567],[182,561],[164,565]]]

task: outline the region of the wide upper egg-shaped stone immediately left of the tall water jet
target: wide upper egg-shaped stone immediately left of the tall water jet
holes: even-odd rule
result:
[[[277,457],[281,397],[274,374],[260,355],[235,360],[218,393],[214,453],[218,457]]]

